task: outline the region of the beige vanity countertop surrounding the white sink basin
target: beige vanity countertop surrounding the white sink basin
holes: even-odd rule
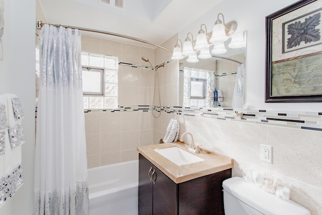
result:
[[[202,148],[200,149],[200,153],[191,153],[204,159],[204,161],[182,166],[176,165],[154,151],[155,149],[166,149],[171,147],[178,147],[186,151],[188,151],[189,148],[188,145],[182,142],[170,142],[138,147],[137,151],[177,184],[233,167],[233,159]]]

